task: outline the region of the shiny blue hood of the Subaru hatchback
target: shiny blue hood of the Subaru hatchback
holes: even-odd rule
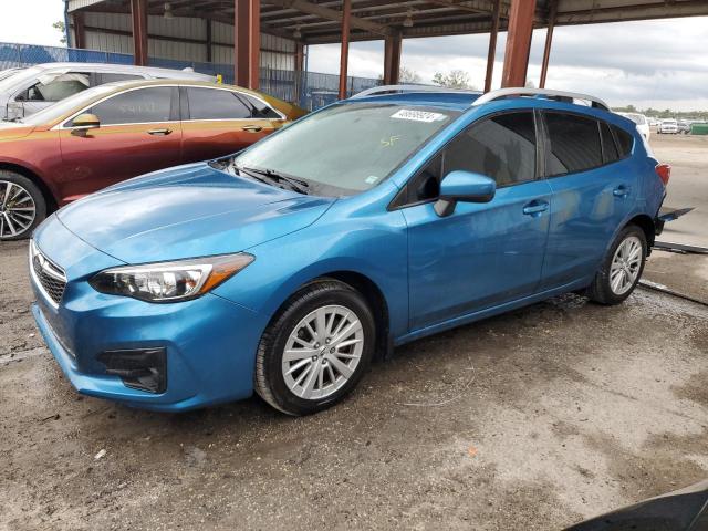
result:
[[[113,186],[58,217],[94,248],[146,263],[239,252],[313,223],[334,201],[199,163]]]

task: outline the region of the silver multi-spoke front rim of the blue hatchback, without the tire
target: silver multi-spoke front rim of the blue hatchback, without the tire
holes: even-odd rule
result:
[[[364,330],[356,314],[341,305],[310,312],[288,337],[282,374],[291,393],[322,399],[354,375],[364,350]]]

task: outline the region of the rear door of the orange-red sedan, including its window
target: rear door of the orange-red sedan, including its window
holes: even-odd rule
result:
[[[236,153],[280,127],[244,96],[229,88],[183,86],[183,162],[196,163]]]

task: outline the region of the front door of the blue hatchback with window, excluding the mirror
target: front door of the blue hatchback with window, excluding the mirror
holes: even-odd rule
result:
[[[448,217],[439,217],[431,201],[403,208],[412,331],[535,292],[551,205],[549,184],[537,179],[535,138],[531,111],[482,118],[416,177],[465,169],[492,177],[498,189],[490,202],[458,202]],[[409,186],[420,194],[435,189],[416,178]]]

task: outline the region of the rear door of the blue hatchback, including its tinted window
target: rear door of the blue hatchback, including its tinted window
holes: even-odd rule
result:
[[[542,289],[552,289],[594,275],[632,211],[637,181],[621,160],[632,146],[624,137],[618,142],[624,132],[615,134],[614,126],[586,115],[542,114],[553,190]]]

